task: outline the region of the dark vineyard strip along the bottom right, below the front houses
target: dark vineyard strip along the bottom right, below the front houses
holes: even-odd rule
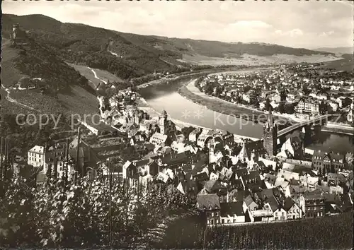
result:
[[[188,218],[172,225],[164,249],[350,249],[353,211],[324,218],[235,227],[205,228]]]

